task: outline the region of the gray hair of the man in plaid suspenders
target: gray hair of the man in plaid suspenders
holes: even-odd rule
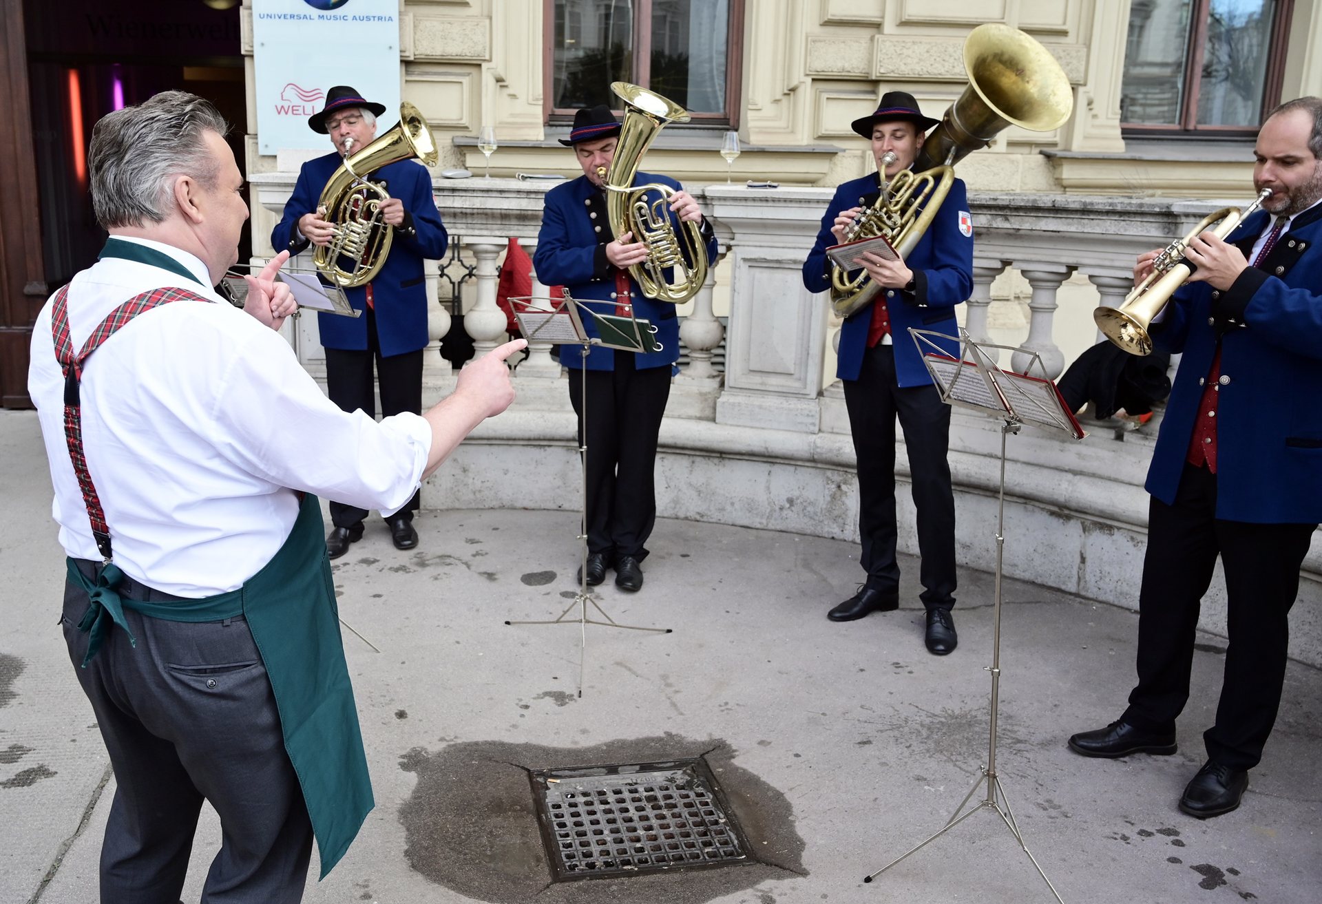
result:
[[[161,91],[102,116],[87,153],[97,222],[102,229],[164,222],[178,176],[213,188],[219,170],[205,135],[229,128],[210,100],[186,91]]]

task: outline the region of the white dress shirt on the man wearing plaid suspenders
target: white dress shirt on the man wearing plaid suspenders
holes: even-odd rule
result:
[[[223,301],[206,266],[144,239],[197,275],[106,258],[69,285],[74,353],[128,299],[161,287],[175,301],[111,336],[83,370],[82,436],[124,574],[176,596],[235,589],[275,555],[297,517],[293,490],[395,511],[412,497],[431,449],[419,415],[377,423],[346,414],[279,333]],[[74,558],[99,560],[63,428],[63,377],[48,300],[32,332],[28,390],[41,422],[59,523]]]

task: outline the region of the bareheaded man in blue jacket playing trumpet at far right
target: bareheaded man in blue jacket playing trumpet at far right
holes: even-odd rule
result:
[[[1147,472],[1138,683],[1118,720],[1069,739],[1084,756],[1175,752],[1199,604],[1220,556],[1222,695],[1203,734],[1207,761],[1179,800],[1198,818],[1237,808],[1263,757],[1300,568],[1322,521],[1322,99],[1272,111],[1253,155],[1253,185],[1272,190],[1263,210],[1225,241],[1190,243],[1198,270],[1150,330],[1183,358]],[[1155,255],[1138,258],[1136,282]]]

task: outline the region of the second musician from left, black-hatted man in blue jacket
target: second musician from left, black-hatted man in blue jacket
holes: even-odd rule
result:
[[[564,285],[579,301],[594,301],[598,313],[621,313],[632,308],[639,320],[656,326],[660,352],[633,353],[592,348],[587,356],[587,435],[580,378],[579,346],[563,346],[561,363],[570,369],[570,400],[579,416],[579,441],[587,444],[587,583],[605,580],[615,568],[615,585],[629,592],[642,587],[641,562],[656,522],[653,469],[661,418],[670,395],[670,377],[680,357],[680,321],[676,305],[645,297],[629,275],[632,264],[648,256],[632,233],[613,235],[605,210],[603,177],[609,169],[620,124],[609,107],[579,110],[568,139],[583,176],[546,193],[542,229],[537,237],[533,266],[547,285]],[[676,189],[670,222],[676,233],[685,222],[702,226],[703,252],[717,255],[715,234],[698,202],[666,176],[636,173],[633,185],[661,182]],[[653,200],[649,197],[649,201]],[[682,239],[682,237],[680,237]],[[592,336],[596,324],[584,317]]]

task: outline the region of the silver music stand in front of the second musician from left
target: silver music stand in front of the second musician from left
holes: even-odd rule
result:
[[[574,299],[568,291],[559,301],[554,299],[538,299],[530,296],[510,297],[510,309],[524,337],[529,341],[538,338],[543,342],[557,342],[559,345],[578,345],[583,366],[579,369],[579,379],[583,390],[583,441],[579,443],[579,455],[583,464],[583,515],[579,522],[582,529],[579,539],[579,592],[574,595],[574,601],[564,607],[554,619],[538,621],[509,621],[506,625],[571,625],[572,619],[566,616],[578,607],[579,617],[579,687],[578,695],[583,697],[583,663],[587,656],[587,626],[602,625],[603,628],[627,628],[629,630],[648,630],[657,634],[669,634],[672,628],[644,628],[642,625],[621,625],[607,615],[598,601],[595,593],[587,587],[587,356],[595,345],[603,349],[617,352],[660,352],[661,344],[656,341],[656,326],[646,320],[639,320],[631,309],[628,316],[602,315],[592,311],[583,301]],[[587,315],[596,324],[598,336],[588,336],[583,326],[583,315]],[[588,604],[604,621],[590,619]]]

